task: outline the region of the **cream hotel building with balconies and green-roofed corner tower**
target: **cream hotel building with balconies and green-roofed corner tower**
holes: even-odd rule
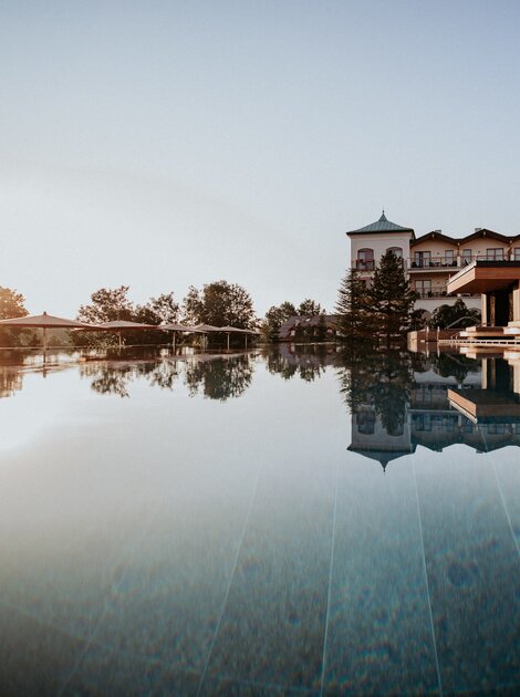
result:
[[[374,268],[387,249],[403,259],[412,289],[419,298],[416,309],[431,313],[443,304],[462,298],[468,308],[481,310],[479,292],[449,294],[447,283],[474,261],[520,261],[520,235],[508,237],[486,228],[475,228],[462,238],[433,230],[420,237],[413,228],[387,220],[384,211],[378,220],[346,233],[351,240],[352,264],[368,284]]]

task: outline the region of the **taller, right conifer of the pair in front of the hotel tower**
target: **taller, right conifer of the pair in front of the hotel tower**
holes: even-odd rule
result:
[[[410,324],[417,298],[406,280],[403,260],[388,249],[374,271],[370,290],[375,331],[389,344],[403,335]]]

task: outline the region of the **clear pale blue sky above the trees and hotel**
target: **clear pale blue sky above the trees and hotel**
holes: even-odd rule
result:
[[[517,0],[0,0],[0,285],[333,310],[345,231],[520,233]]]

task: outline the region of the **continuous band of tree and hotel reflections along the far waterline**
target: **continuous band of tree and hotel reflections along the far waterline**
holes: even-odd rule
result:
[[[312,382],[327,367],[336,372],[342,399],[352,418],[349,450],[378,461],[383,469],[417,446],[443,450],[465,444],[476,451],[520,445],[520,353],[483,356],[422,355],[407,351],[373,353],[334,344],[266,347],[267,370],[283,379]],[[100,395],[128,398],[131,386],[150,387],[225,402],[251,386],[259,354],[163,355],[146,350],[107,355],[51,356],[44,366],[34,356],[3,354],[0,396],[22,389],[34,368],[45,376],[74,367]]]

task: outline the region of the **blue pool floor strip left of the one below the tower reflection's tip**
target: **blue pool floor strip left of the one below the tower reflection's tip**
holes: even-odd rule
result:
[[[333,497],[319,464],[262,476],[208,679],[319,689]]]

